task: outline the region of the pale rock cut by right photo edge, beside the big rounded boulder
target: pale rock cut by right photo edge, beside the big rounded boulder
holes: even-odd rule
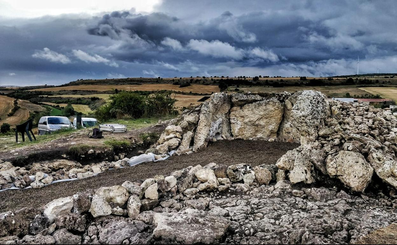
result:
[[[381,150],[371,149],[368,161],[379,178],[397,188],[397,162],[392,155]]]

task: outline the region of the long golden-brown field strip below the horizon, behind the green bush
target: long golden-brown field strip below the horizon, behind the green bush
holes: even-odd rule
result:
[[[171,90],[178,92],[205,93],[219,92],[217,85],[193,84],[188,87],[180,88],[179,85],[172,84],[144,84],[144,85],[76,85],[66,87],[38,88],[31,91],[62,91],[62,90],[88,90],[88,91],[110,91],[113,89],[127,91],[158,91]]]

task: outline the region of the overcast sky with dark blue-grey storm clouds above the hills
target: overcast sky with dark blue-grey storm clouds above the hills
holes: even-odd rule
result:
[[[0,0],[0,85],[397,72],[395,0]]]

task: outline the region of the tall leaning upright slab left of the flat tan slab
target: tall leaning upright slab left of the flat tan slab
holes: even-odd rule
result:
[[[230,107],[229,96],[225,93],[213,94],[209,101],[202,104],[193,151],[206,147],[211,138],[230,136]]]

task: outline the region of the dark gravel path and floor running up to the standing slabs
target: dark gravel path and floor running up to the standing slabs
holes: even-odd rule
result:
[[[286,142],[222,140],[210,144],[198,153],[173,156],[165,161],[105,171],[94,177],[50,184],[41,189],[2,191],[0,192],[0,212],[18,210],[23,207],[39,208],[54,199],[71,196],[78,191],[120,185],[125,181],[144,180],[155,175],[168,175],[191,165],[204,166],[212,162],[225,165],[247,163],[251,166],[275,164],[285,152],[298,146],[299,144]]]

